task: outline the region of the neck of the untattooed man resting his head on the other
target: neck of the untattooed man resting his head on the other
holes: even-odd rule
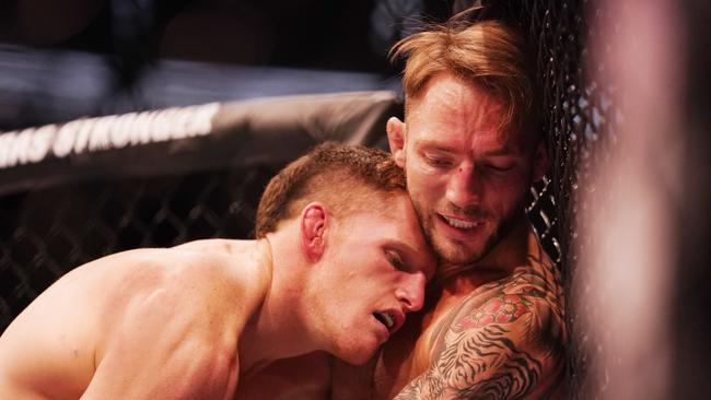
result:
[[[287,238],[265,239],[271,281],[261,306],[249,318],[240,338],[241,375],[252,375],[275,360],[317,350],[302,318],[304,271]],[[292,251],[284,251],[291,249]]]

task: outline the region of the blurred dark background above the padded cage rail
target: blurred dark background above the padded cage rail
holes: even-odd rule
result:
[[[397,89],[389,46],[453,0],[0,0],[0,130]],[[459,5],[461,7],[461,5]]]

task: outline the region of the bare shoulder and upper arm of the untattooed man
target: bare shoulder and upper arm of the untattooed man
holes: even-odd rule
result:
[[[263,299],[255,270],[199,249],[135,257],[105,307],[113,323],[97,346],[88,398],[229,398],[238,336]]]

